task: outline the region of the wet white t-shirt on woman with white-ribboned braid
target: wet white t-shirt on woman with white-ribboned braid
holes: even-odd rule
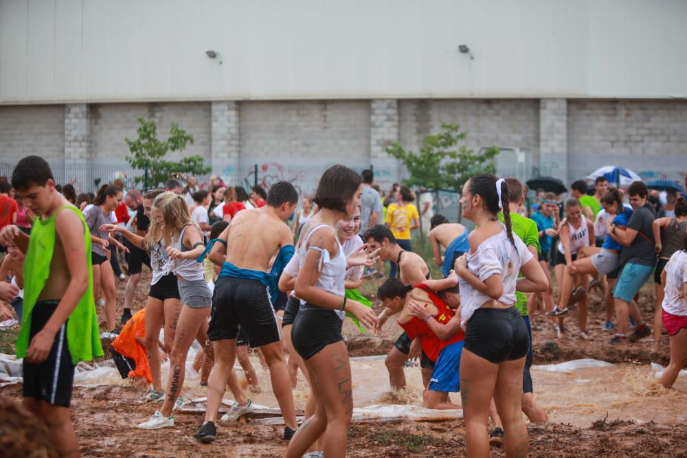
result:
[[[515,283],[521,266],[532,260],[532,253],[519,237],[513,236],[515,248],[508,240],[506,228],[492,236],[477,247],[477,251],[468,255],[469,270],[480,277],[480,280],[488,279],[492,275],[501,274],[504,282],[504,293],[499,297],[499,302],[506,305],[515,304]],[[473,288],[468,282],[460,278],[461,322],[465,328],[466,323],[473,316],[475,310],[482,304],[493,299]]]

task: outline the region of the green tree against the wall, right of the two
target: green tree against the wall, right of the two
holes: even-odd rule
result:
[[[495,173],[494,157],[499,154],[497,146],[491,146],[475,153],[464,145],[466,133],[460,132],[458,124],[441,124],[442,132],[427,135],[418,152],[405,150],[400,144],[387,146],[386,152],[403,162],[409,177],[403,179],[407,186],[420,186],[428,190],[461,192],[468,179],[480,173]]]

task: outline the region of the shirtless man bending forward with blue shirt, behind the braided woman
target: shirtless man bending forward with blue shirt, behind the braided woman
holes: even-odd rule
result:
[[[434,253],[434,264],[441,268],[445,278],[451,273],[455,260],[470,251],[468,231],[458,222],[449,222],[444,215],[436,214],[430,221],[429,242]],[[441,247],[444,248],[443,259]]]

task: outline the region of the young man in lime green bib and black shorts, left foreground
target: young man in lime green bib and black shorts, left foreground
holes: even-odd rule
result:
[[[31,236],[14,225],[0,244],[26,253],[24,326],[16,341],[23,363],[23,406],[43,420],[65,457],[80,455],[71,423],[71,385],[80,360],[102,356],[93,303],[91,233],[78,208],[55,189],[45,159],[17,163],[12,185],[38,218]]]

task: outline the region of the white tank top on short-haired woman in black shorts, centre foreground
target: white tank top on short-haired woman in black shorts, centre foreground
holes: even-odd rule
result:
[[[315,233],[315,231],[322,229],[323,227],[328,227],[331,231],[334,231],[334,238],[337,241],[337,248],[339,249],[337,255],[330,258],[329,251],[319,249],[317,247],[311,247],[310,249],[319,251],[319,263],[317,264],[317,271],[319,271],[319,278],[317,279],[317,288],[326,291],[327,293],[332,293],[333,295],[343,296],[346,290],[343,287],[343,279],[346,276],[346,255],[343,254],[343,247],[339,243],[339,238],[336,236],[336,231],[328,225],[319,225],[315,227],[312,231],[308,232],[308,236],[303,241],[303,244],[298,248],[298,255],[300,260],[305,260],[306,257],[306,247],[308,244],[308,239]],[[307,310],[308,308],[319,308],[311,304],[307,304],[306,301],[301,299],[301,308]],[[346,317],[346,312],[342,310],[334,310],[339,315],[339,318],[343,319]]]

